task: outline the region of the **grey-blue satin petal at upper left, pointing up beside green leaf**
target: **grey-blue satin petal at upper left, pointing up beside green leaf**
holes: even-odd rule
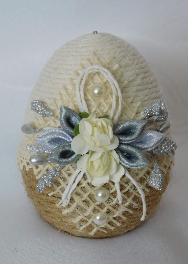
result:
[[[61,106],[60,108],[60,124],[69,135],[73,136],[73,129],[79,124],[81,117],[72,109]]]

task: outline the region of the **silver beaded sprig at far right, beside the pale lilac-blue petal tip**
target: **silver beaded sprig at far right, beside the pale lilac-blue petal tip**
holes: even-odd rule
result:
[[[164,138],[162,142],[152,150],[153,153],[158,155],[166,155],[168,154],[170,157],[174,156],[174,150],[177,149],[177,144],[171,140],[170,138]]]

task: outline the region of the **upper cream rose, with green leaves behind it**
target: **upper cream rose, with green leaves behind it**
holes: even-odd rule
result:
[[[72,140],[75,153],[86,154],[89,150],[103,152],[118,147],[119,140],[113,134],[113,124],[108,118],[96,118],[91,114],[79,123],[79,133]]]

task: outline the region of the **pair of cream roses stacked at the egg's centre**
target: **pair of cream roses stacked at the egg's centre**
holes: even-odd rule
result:
[[[82,154],[77,168],[87,174],[88,182],[101,186],[109,180],[120,181],[125,170],[114,150],[118,145],[110,119],[91,114],[79,122],[79,134],[73,138],[71,146],[75,153]]]

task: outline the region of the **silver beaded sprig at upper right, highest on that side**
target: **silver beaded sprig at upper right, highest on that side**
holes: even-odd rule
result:
[[[141,114],[146,119],[154,117],[156,121],[164,122],[168,117],[165,109],[165,103],[161,99],[155,99]]]

